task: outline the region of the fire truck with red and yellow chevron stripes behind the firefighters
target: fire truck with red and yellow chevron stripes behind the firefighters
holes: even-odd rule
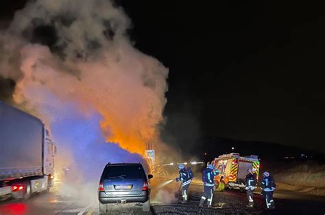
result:
[[[219,181],[221,176],[224,176],[228,188],[240,190],[245,188],[245,177],[248,169],[256,169],[257,178],[260,169],[258,156],[240,156],[238,153],[223,154],[215,158],[212,164],[219,170],[216,180]]]

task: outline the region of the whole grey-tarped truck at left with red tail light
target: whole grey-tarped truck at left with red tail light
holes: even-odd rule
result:
[[[0,101],[0,197],[28,199],[49,190],[55,154],[40,119]]]

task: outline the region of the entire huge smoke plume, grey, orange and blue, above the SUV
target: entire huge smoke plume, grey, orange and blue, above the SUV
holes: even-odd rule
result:
[[[141,162],[145,144],[159,143],[168,70],[132,46],[128,29],[111,1],[37,0],[0,35],[14,102],[45,121],[58,162],[96,180],[106,162]]]

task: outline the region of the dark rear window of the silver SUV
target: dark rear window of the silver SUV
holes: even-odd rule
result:
[[[104,178],[123,177],[123,178],[144,178],[145,174],[143,168],[139,165],[118,165],[108,166],[104,171]]]

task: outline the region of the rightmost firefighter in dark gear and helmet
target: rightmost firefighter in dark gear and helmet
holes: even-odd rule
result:
[[[261,184],[261,195],[265,198],[267,209],[275,209],[275,203],[273,200],[273,192],[276,189],[276,183],[268,172],[263,173],[263,180]]]

